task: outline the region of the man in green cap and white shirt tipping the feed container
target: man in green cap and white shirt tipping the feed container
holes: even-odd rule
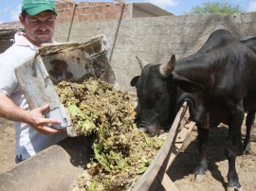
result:
[[[0,117],[14,121],[16,163],[64,140],[66,132],[47,124],[60,121],[45,118],[48,105],[29,111],[14,68],[35,55],[42,43],[53,43],[57,13],[52,0],[23,0],[20,22],[25,32],[17,32],[15,43],[0,56]]]

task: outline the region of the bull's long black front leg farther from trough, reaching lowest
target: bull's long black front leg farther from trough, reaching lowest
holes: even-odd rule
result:
[[[238,101],[231,110],[226,155],[229,161],[228,190],[242,189],[235,169],[235,159],[241,143],[241,126],[244,120],[243,102]]]

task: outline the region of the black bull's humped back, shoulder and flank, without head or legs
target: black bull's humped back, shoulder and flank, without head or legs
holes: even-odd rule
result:
[[[240,42],[228,30],[220,29],[198,52],[177,61],[174,71],[203,85],[204,101],[211,102],[216,113],[227,99],[245,99],[248,111],[256,108],[255,51],[256,38]]]

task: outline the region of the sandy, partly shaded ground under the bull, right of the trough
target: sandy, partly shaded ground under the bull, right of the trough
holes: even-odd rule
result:
[[[245,127],[243,127],[245,130]],[[210,130],[208,147],[208,171],[206,180],[201,183],[192,182],[192,172],[198,161],[196,127],[192,131],[187,148],[175,158],[168,175],[180,191],[224,191],[227,186],[228,160],[225,155],[225,143],[228,129],[221,126]],[[251,148],[256,152],[256,128],[251,133]],[[255,154],[238,156],[236,170],[243,190],[256,190],[256,156]]]

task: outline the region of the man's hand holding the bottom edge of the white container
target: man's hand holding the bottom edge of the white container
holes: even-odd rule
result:
[[[56,132],[59,132],[60,130],[52,129],[49,127],[49,125],[61,124],[61,121],[52,118],[45,118],[44,113],[46,113],[47,111],[49,111],[48,104],[30,111],[29,114],[31,120],[28,124],[44,134],[54,134]]]

